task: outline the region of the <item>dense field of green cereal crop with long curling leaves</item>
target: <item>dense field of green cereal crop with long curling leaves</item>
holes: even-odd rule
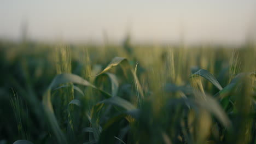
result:
[[[0,143],[256,143],[256,50],[0,43]]]

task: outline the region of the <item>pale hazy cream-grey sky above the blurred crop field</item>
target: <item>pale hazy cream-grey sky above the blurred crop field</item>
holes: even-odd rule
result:
[[[255,17],[254,0],[36,1],[0,0],[0,37],[34,40],[242,43]]]

